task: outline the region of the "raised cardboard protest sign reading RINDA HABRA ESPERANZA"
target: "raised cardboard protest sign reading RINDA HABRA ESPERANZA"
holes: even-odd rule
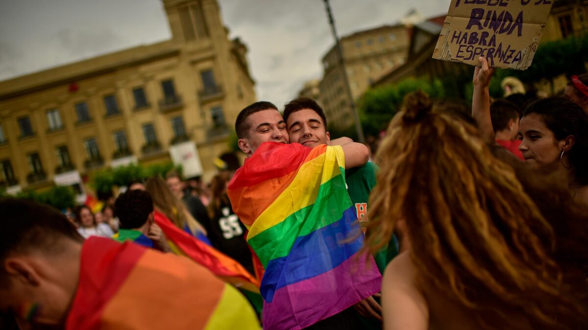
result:
[[[524,70],[554,0],[452,0],[433,58]]]

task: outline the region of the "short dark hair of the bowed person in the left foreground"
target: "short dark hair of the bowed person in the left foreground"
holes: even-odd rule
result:
[[[0,198],[0,265],[12,252],[32,249],[61,251],[59,241],[83,242],[68,218],[56,208],[24,198]],[[0,267],[0,284],[5,284]]]

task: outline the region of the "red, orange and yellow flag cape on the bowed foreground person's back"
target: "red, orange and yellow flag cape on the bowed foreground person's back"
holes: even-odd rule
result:
[[[195,262],[91,237],[66,319],[77,329],[255,329],[245,297]]]

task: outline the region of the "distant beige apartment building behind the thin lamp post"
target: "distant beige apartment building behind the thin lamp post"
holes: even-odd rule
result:
[[[352,99],[345,89],[343,68],[335,46],[323,56],[323,78],[319,87],[320,102],[330,126],[345,129],[353,124],[352,102],[373,82],[406,62],[409,28],[405,25],[380,26],[344,36],[340,43]]]

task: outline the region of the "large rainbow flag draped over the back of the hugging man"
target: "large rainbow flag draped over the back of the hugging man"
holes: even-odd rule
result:
[[[265,267],[265,329],[301,329],[380,291],[346,190],[340,146],[263,143],[229,183]]]

